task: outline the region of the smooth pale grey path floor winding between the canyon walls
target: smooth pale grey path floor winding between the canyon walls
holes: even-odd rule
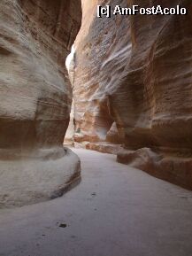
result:
[[[73,151],[81,159],[78,186],[62,198],[0,211],[1,256],[191,255],[191,191],[113,155]]]

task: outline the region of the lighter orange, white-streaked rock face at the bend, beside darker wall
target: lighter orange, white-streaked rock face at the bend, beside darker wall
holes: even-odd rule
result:
[[[110,113],[110,97],[119,84],[130,47],[125,33],[129,27],[126,17],[96,18],[96,5],[104,3],[127,6],[127,0],[83,0],[81,31],[74,44],[74,140],[88,141],[93,146],[101,142],[121,142]]]

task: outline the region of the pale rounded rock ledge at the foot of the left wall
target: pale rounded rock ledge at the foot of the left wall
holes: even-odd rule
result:
[[[67,148],[27,151],[0,159],[0,177],[0,209],[32,205],[61,197],[79,183],[81,163]]]

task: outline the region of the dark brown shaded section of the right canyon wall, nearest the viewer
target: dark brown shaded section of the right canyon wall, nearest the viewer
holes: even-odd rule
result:
[[[125,131],[119,161],[192,189],[192,4],[180,5],[188,15],[131,17],[132,57],[112,105]]]

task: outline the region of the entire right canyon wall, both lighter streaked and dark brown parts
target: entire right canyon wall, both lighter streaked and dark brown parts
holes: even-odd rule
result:
[[[178,1],[83,3],[75,43],[75,140],[105,142],[112,134],[112,143],[123,141],[120,162],[192,189],[192,4],[180,1],[188,15],[101,19],[96,4],[175,7]]]

